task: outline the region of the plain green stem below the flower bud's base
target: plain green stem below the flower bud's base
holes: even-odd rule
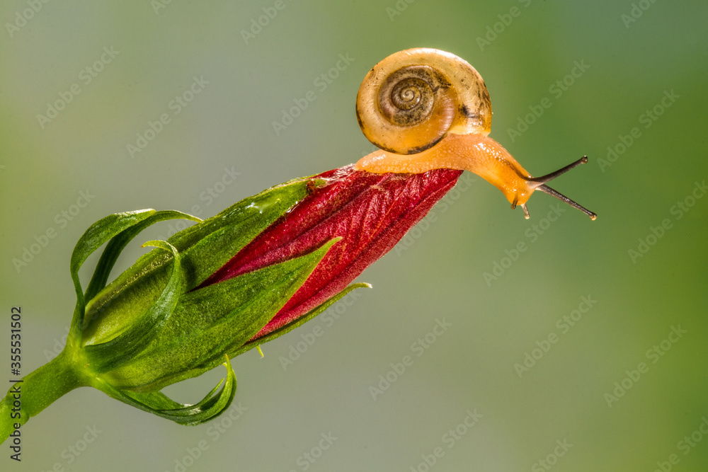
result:
[[[24,425],[64,393],[86,385],[86,379],[76,372],[74,362],[65,352],[12,384],[0,401],[0,443],[16,429],[16,424]],[[20,402],[19,407],[16,401]]]

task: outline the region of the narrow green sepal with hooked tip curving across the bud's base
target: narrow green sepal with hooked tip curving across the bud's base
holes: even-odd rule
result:
[[[120,367],[144,350],[150,341],[159,335],[162,326],[177,306],[182,282],[181,256],[177,249],[166,241],[148,241],[143,246],[155,246],[172,253],[169,280],[155,303],[142,316],[130,323],[127,330],[105,343],[84,347],[89,368],[97,374]]]

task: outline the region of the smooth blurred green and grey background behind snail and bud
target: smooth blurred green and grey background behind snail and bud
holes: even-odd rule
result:
[[[358,160],[360,81],[398,50],[474,65],[491,137],[534,175],[587,154],[553,186],[599,214],[552,221],[540,194],[525,220],[463,175],[360,277],[373,290],[233,360],[236,420],[181,427],[82,388],[1,469],[708,470],[705,2],[9,0],[0,18],[0,346],[21,306],[25,374],[62,345],[87,226],[144,207],[209,217]],[[222,375],[167,392],[195,402]]]

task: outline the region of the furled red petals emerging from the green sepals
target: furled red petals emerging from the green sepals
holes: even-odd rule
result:
[[[207,279],[202,287],[307,254],[336,236],[295,295],[253,339],[304,315],[344,289],[366,267],[390,251],[450,190],[462,171],[375,174],[353,165],[314,176],[316,188]]]

